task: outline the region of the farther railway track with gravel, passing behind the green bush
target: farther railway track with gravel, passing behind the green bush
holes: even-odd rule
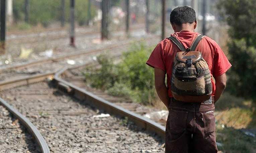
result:
[[[144,39],[146,43],[155,43],[152,36]],[[122,52],[127,51],[129,46],[134,41],[141,41],[141,39],[133,39],[129,41],[120,41],[118,44],[112,44],[108,46],[103,46],[100,49],[91,49],[87,51],[80,51],[77,53],[72,53],[64,56],[45,58],[37,61],[30,61],[23,64],[10,65],[7,67],[0,68],[0,90],[8,89],[9,82],[15,81],[17,79],[24,80],[31,76],[49,74],[53,75],[57,70],[72,66],[68,61],[76,62],[76,65],[84,65],[93,61],[94,57],[106,52],[108,55],[121,55]],[[25,82],[25,81],[23,81]],[[24,85],[24,84],[23,84]]]

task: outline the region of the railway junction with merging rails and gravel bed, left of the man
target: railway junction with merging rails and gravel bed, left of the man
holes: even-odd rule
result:
[[[165,128],[141,116],[147,109],[88,88],[78,73],[102,52],[118,59],[134,41],[1,67],[1,143],[9,152],[163,152]]]

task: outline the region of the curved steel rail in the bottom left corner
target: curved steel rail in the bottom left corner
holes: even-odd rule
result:
[[[50,153],[49,147],[48,147],[45,139],[42,137],[42,135],[37,130],[37,128],[25,116],[23,116],[21,113],[19,113],[16,109],[14,109],[11,105],[9,105],[2,98],[0,98],[0,104],[3,105],[16,118],[18,118],[19,121],[22,122],[22,124],[26,127],[26,129],[28,129],[29,133],[34,136],[37,144],[40,146],[42,153]]]

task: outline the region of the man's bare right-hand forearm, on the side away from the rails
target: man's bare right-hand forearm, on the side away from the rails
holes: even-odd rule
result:
[[[214,96],[214,103],[216,103],[219,100],[219,98],[221,97],[222,93],[226,88],[226,82],[227,82],[226,73],[218,77],[215,77],[215,81],[216,81],[215,83],[216,91]]]

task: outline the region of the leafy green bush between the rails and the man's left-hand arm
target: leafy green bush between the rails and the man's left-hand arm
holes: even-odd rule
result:
[[[86,81],[92,87],[107,90],[109,94],[152,104],[155,98],[154,71],[145,64],[151,51],[152,48],[146,48],[143,43],[134,44],[129,52],[123,54],[123,60],[118,65],[106,55],[101,55],[97,58],[101,68],[88,69],[84,73]]]

